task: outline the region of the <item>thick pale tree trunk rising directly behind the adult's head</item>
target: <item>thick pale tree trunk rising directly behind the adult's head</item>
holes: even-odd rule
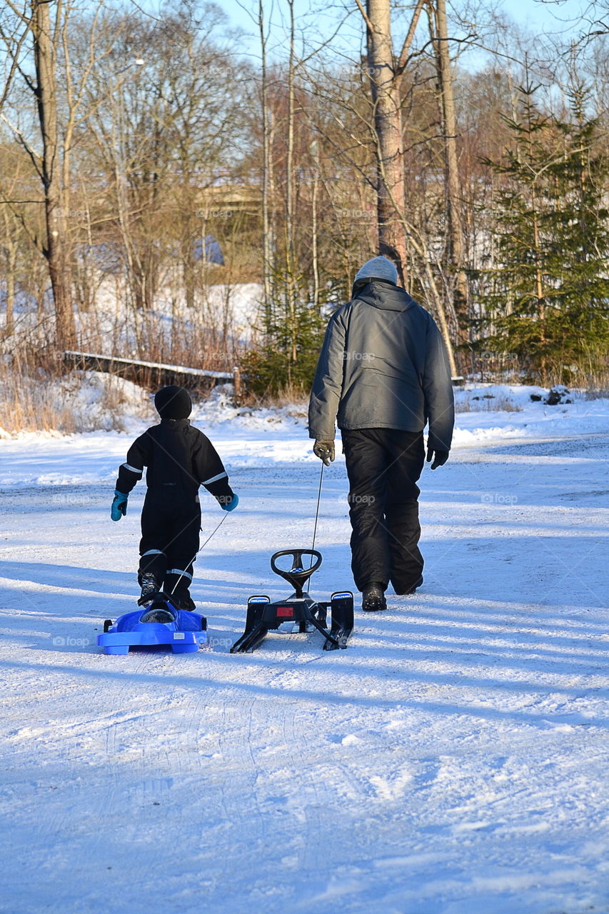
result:
[[[399,79],[393,61],[390,0],[367,0],[368,66],[377,158],[379,251],[396,260],[401,284],[406,268],[404,175]]]

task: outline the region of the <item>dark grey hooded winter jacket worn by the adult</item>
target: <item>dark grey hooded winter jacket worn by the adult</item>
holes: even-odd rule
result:
[[[317,362],[309,433],[332,441],[339,429],[422,431],[450,451],[454,426],[451,373],[440,331],[420,304],[371,280],[330,318]]]

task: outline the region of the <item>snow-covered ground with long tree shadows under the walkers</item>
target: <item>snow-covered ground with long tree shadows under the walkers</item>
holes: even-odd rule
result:
[[[609,401],[485,393],[423,472],[422,590],[330,654],[229,654],[247,596],[285,593],[271,553],[311,543],[298,409],[198,410],[241,501],[198,559],[192,655],[96,647],[137,594],[143,486],[109,518],[135,425],[0,441],[0,911],[609,911]],[[346,494],[338,455],[322,597],[352,586]]]

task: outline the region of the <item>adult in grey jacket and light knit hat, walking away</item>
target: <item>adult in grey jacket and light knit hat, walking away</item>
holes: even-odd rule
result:
[[[418,547],[420,489],[427,460],[448,460],[454,398],[448,360],[433,317],[399,288],[385,257],[358,271],[350,302],[326,330],[309,404],[314,452],[334,460],[335,420],[349,478],[351,568],[362,609],[387,608],[389,582],[399,594],[422,584]]]

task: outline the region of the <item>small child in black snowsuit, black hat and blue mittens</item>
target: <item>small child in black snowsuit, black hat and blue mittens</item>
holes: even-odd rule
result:
[[[155,407],[161,422],[129,448],[127,461],[119,468],[111,516],[120,520],[126,514],[129,493],[147,467],[138,604],[151,602],[158,590],[165,590],[178,609],[194,610],[188,587],[201,527],[198,487],[204,485],[224,511],[236,508],[239,497],[230,488],[229,474],[211,441],[190,424],[188,391],[175,385],[161,388]]]

